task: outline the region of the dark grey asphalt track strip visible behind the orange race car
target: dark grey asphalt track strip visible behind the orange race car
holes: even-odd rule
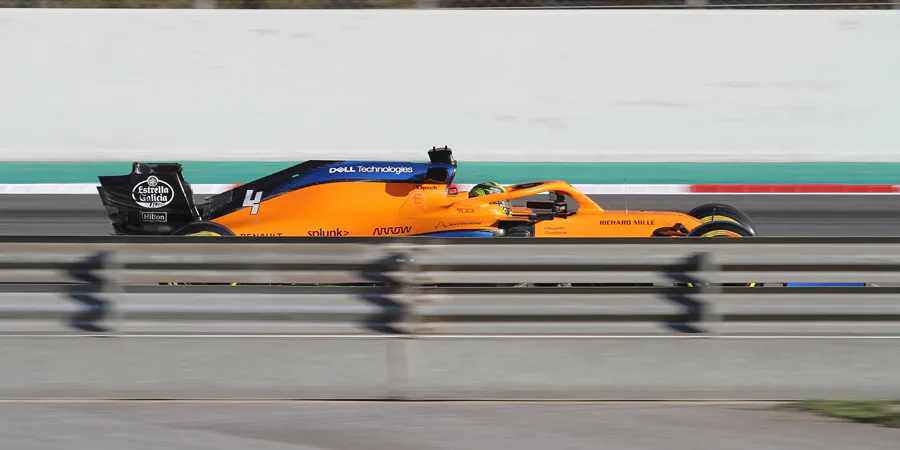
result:
[[[744,210],[761,236],[900,236],[900,195],[596,195],[607,209],[687,212],[721,202]],[[323,199],[327,201],[327,199]],[[0,195],[0,235],[102,236],[95,195]]]

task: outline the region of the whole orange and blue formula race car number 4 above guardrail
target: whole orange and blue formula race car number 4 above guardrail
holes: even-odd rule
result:
[[[195,204],[177,163],[133,164],[98,187],[116,234],[214,236],[744,237],[746,214],[611,211],[564,181],[459,192],[449,148],[430,162],[307,161]],[[486,187],[487,189],[483,189]],[[549,194],[550,201],[526,197]],[[511,201],[525,199],[526,205]],[[577,203],[570,208],[570,199]]]

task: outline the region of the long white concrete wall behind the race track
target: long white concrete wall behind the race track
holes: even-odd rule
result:
[[[900,11],[0,10],[2,160],[900,161]]]

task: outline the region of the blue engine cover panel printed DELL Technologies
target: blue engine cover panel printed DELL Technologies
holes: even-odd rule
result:
[[[443,168],[455,175],[453,164],[410,163],[390,161],[341,161],[326,164],[294,177],[275,188],[273,194],[306,186],[338,181],[376,181],[383,183],[415,183],[426,180],[428,169]]]

